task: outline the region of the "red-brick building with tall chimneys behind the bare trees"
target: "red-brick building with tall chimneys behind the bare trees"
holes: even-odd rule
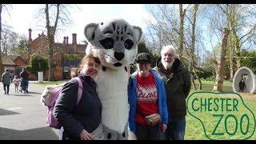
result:
[[[38,53],[42,56],[48,56],[47,36],[42,32],[38,38],[32,40],[32,30],[29,29],[28,56]],[[62,43],[54,42],[53,61],[56,64],[54,68],[54,78],[62,80],[69,77],[70,67],[78,66],[78,62],[66,62],[64,54],[86,54],[86,44],[77,43],[77,34],[72,34],[72,43],[69,43],[69,37],[64,37]],[[75,64],[74,64],[75,63]],[[48,78],[48,70],[44,72],[44,79]],[[31,80],[38,80],[37,75],[30,74]]]

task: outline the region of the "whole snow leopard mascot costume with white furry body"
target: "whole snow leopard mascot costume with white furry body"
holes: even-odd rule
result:
[[[86,54],[100,58],[102,65],[95,78],[102,101],[102,124],[106,139],[128,139],[128,80],[130,63],[138,54],[142,29],[124,19],[89,23],[84,34]]]

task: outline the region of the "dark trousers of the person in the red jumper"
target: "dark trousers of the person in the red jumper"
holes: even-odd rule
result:
[[[144,126],[136,123],[136,137],[138,140],[160,140],[161,135],[159,134],[158,124],[154,126]]]

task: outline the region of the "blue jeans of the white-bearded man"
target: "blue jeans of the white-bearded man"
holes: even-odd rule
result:
[[[186,118],[182,118],[168,123],[164,140],[184,140],[186,130]]]

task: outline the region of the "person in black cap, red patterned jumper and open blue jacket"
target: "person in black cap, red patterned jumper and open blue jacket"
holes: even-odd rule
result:
[[[128,84],[129,127],[138,140],[160,140],[166,130],[168,111],[166,91],[160,74],[150,69],[150,55],[138,54],[138,71],[131,74]],[[150,123],[146,116],[159,115]]]

